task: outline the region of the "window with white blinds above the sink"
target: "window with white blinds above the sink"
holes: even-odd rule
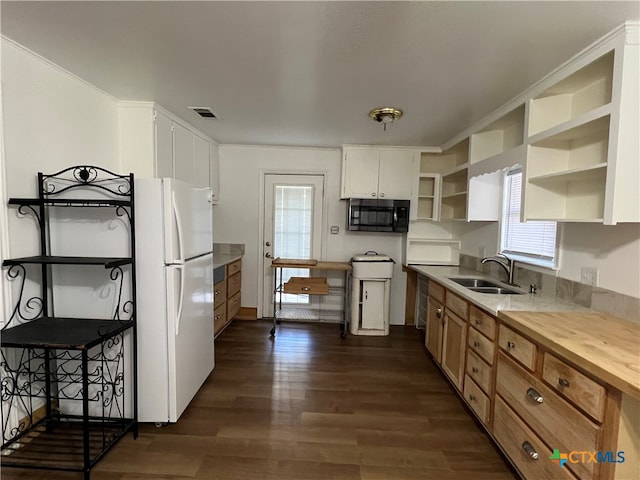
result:
[[[556,222],[520,222],[522,169],[505,175],[500,251],[522,262],[555,267]]]

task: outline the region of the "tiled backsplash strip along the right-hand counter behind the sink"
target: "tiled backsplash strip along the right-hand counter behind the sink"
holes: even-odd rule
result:
[[[496,280],[505,281],[504,270],[499,265],[493,262],[482,264],[481,260],[480,257],[460,254],[460,268],[475,270]],[[567,300],[598,312],[640,323],[640,298],[530,270],[517,263],[514,282],[525,290],[535,283],[539,295]]]

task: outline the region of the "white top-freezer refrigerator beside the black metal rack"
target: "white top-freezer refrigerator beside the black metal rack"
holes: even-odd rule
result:
[[[135,181],[138,418],[176,422],[214,366],[211,191]]]

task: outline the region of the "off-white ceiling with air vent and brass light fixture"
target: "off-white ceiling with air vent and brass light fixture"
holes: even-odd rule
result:
[[[640,2],[10,2],[2,34],[220,143],[440,146]],[[221,119],[188,110],[211,107]],[[372,108],[404,110],[383,131]]]

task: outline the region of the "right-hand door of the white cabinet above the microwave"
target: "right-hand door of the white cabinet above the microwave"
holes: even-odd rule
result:
[[[411,200],[418,176],[416,154],[411,150],[380,150],[378,197]]]

